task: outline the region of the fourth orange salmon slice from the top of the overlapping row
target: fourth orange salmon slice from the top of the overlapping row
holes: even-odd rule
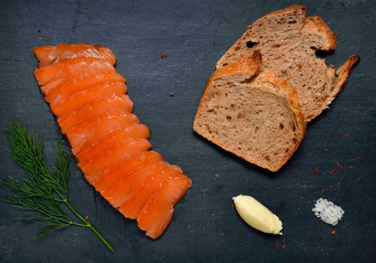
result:
[[[94,103],[102,97],[124,94],[124,90],[126,90],[124,83],[110,84],[106,82],[78,91],[58,103],[51,103],[50,107],[53,114],[57,117],[63,117],[85,105]]]

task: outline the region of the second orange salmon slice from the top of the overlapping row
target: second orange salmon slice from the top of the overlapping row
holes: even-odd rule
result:
[[[112,73],[114,66],[100,58],[73,58],[47,68],[39,68],[34,71],[35,78],[41,85],[43,93],[51,88],[58,87],[65,82],[80,79],[90,74]]]

